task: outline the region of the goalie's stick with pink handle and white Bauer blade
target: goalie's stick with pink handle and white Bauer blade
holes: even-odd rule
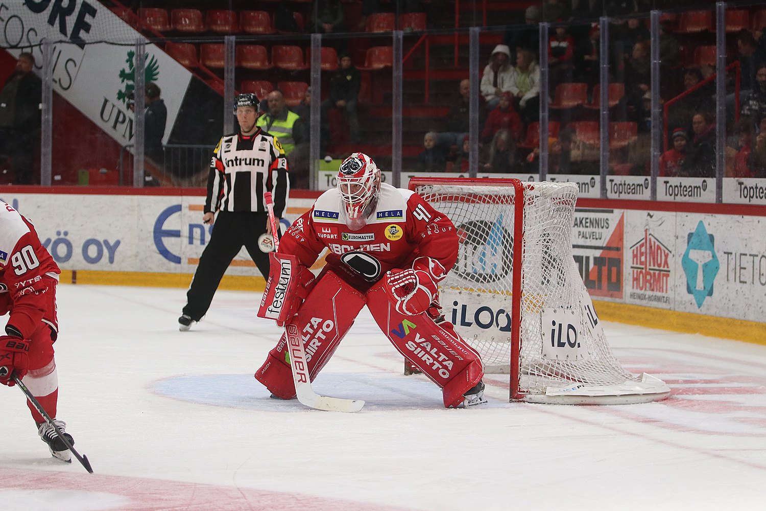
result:
[[[271,197],[271,192],[264,193],[264,201],[269,211],[274,251],[278,252],[280,250],[280,240],[277,234],[277,221],[274,218],[274,201]],[[294,323],[287,323],[285,325],[285,335],[287,336],[287,344],[290,347],[290,369],[293,371],[295,394],[301,405],[325,411],[362,410],[365,401],[361,399],[330,398],[329,396],[317,394],[311,388],[309,365],[306,362],[306,346],[303,345],[303,339],[300,336],[300,332],[298,332],[298,327]]]

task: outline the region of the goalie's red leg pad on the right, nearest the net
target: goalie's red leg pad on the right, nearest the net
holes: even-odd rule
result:
[[[451,323],[437,325],[427,313],[398,313],[383,285],[380,281],[365,294],[375,322],[405,358],[442,388],[445,407],[459,405],[465,391],[484,375],[479,354],[457,336]]]

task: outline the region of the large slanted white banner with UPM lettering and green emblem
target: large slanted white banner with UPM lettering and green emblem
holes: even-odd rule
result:
[[[126,93],[133,90],[135,83],[135,46],[91,41],[135,43],[143,37],[139,32],[100,3],[85,0],[70,0],[66,8],[61,7],[61,2],[2,2],[0,28],[2,44],[18,46],[6,50],[8,53],[17,58],[22,51],[34,54],[37,74],[41,74],[43,54],[42,47],[34,45],[46,38],[60,41],[53,45],[54,92],[120,146],[132,143],[133,112],[127,107]],[[145,83],[159,86],[168,109],[165,142],[191,73],[154,44],[146,44],[145,67]]]

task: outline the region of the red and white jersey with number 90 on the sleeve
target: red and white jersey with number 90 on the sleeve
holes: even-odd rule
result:
[[[0,201],[0,314],[29,339],[40,322],[58,332],[55,284],[61,274],[34,226]]]

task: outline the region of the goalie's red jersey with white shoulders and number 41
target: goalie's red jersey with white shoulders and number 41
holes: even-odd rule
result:
[[[457,260],[452,221],[414,192],[381,183],[375,211],[358,231],[346,226],[342,208],[337,188],[324,192],[287,229],[280,252],[311,267],[327,248],[329,267],[357,287],[374,283],[392,268],[411,267],[416,257],[437,260],[445,274]]]

